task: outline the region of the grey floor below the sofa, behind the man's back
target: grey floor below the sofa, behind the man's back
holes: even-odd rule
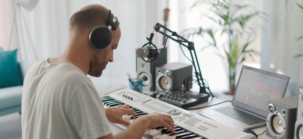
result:
[[[19,112],[0,116],[0,139],[21,138],[21,115]]]

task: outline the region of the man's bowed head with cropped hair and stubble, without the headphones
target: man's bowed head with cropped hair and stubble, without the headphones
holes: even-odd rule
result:
[[[69,21],[69,34],[76,38],[81,43],[81,48],[84,48],[86,54],[83,54],[84,58],[90,60],[90,67],[88,75],[99,77],[102,71],[106,68],[108,62],[113,62],[113,50],[117,48],[121,30],[118,27],[115,31],[112,31],[112,43],[109,47],[103,50],[97,50],[93,48],[89,42],[89,34],[91,30],[96,26],[108,26],[105,21],[109,17],[109,10],[102,5],[88,5],[79,11],[75,12]]]

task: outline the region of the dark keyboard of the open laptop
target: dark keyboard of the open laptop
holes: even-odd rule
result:
[[[214,110],[248,125],[265,122],[265,120],[261,118],[232,107],[215,108]]]

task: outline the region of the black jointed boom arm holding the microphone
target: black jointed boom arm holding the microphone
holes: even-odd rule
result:
[[[164,33],[163,31],[160,31],[160,28],[163,28],[163,29],[165,29],[166,31],[170,32],[170,33],[171,33],[171,36],[176,36],[176,37],[178,37],[178,38],[181,38],[182,40],[176,40],[175,38],[173,38],[173,37],[171,37],[170,35]],[[171,40],[174,40],[175,42],[177,42],[178,44],[180,44],[180,45],[186,47],[186,48],[189,50],[190,55],[191,55],[192,64],[193,64],[193,66],[194,66],[195,74],[196,74],[196,77],[197,77],[197,80],[198,80],[198,85],[199,85],[199,87],[200,87],[200,90],[199,90],[200,92],[199,92],[199,93],[200,93],[200,94],[201,94],[201,93],[207,93],[207,92],[206,92],[206,89],[207,89],[208,92],[209,92],[209,95],[213,96],[212,93],[211,93],[211,91],[210,91],[210,89],[209,89],[209,87],[205,87],[205,83],[204,83],[203,78],[202,78],[200,65],[199,65],[199,63],[198,63],[198,58],[197,58],[197,54],[196,54],[195,47],[194,47],[194,42],[186,40],[184,37],[178,35],[175,31],[171,31],[171,30],[168,29],[167,27],[161,25],[160,23],[157,23],[157,24],[155,24],[155,26],[154,26],[154,28],[153,28],[153,31],[151,32],[151,37],[147,38],[148,41],[149,41],[149,43],[151,43],[152,38],[153,38],[153,36],[154,36],[154,33],[153,33],[154,30],[155,30],[156,32],[159,32],[160,34],[164,35],[165,37],[168,37],[168,38],[170,38]],[[187,45],[184,44],[184,43],[187,43]],[[193,55],[193,54],[195,55],[195,58],[194,58],[194,55]],[[196,63],[195,63],[195,60],[196,60]],[[203,87],[202,87],[201,85],[202,85]]]

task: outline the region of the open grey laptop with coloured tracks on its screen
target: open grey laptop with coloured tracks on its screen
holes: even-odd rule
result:
[[[268,100],[283,98],[288,81],[288,76],[242,66],[231,105],[198,113],[236,129],[265,126]]]

